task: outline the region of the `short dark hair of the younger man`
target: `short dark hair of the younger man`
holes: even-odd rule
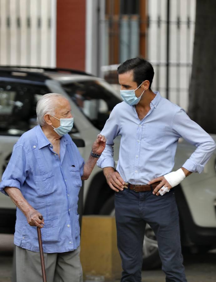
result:
[[[118,67],[117,72],[118,74],[122,74],[130,70],[133,70],[133,79],[137,83],[137,86],[139,86],[142,81],[148,80],[150,82],[149,89],[151,90],[154,77],[154,69],[151,63],[140,57],[129,59]]]

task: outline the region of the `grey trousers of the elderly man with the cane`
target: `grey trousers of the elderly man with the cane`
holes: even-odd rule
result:
[[[80,247],[65,253],[44,253],[47,282],[82,282]],[[16,282],[42,281],[40,254],[16,246]]]

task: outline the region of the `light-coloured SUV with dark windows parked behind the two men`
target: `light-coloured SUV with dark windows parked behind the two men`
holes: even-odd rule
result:
[[[95,136],[100,133],[113,107],[121,102],[110,84],[85,72],[65,69],[0,67],[0,178],[13,145],[36,125],[36,103],[46,93],[63,94],[70,101],[74,128],[70,132],[84,159],[88,159]],[[212,136],[216,140],[216,136]],[[83,142],[85,141],[85,144]],[[118,160],[120,138],[115,139]],[[174,169],[181,167],[195,147],[180,138]],[[175,189],[180,215],[182,245],[194,252],[215,248],[216,238],[216,153],[200,175],[192,174]],[[114,214],[114,191],[101,169],[95,167],[85,181],[83,214]],[[0,193],[0,233],[13,233],[15,206]],[[143,266],[160,265],[157,240],[147,225],[143,245]]]

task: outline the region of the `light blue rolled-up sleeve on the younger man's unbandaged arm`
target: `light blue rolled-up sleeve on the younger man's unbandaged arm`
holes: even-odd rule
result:
[[[100,133],[106,137],[105,149],[97,161],[97,166],[100,168],[115,167],[115,161],[113,158],[113,145],[114,139],[119,133],[119,124],[117,123],[118,118],[116,118],[116,115],[116,108],[114,108]]]

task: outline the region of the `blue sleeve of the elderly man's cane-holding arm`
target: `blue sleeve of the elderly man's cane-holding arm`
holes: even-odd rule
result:
[[[4,191],[5,187],[15,187],[20,190],[20,187],[26,179],[26,175],[27,161],[25,150],[22,146],[15,144],[10,161],[2,176],[0,191],[8,196],[8,194]]]

